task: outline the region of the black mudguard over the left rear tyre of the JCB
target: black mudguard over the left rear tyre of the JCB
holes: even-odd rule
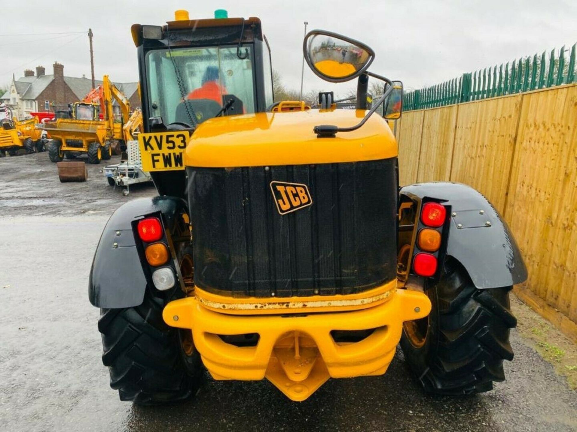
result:
[[[147,281],[136,249],[130,223],[143,215],[161,211],[171,228],[185,203],[173,196],[129,201],[108,219],[92,261],[88,298],[98,308],[130,308],[143,302]],[[115,245],[116,244],[116,245]]]

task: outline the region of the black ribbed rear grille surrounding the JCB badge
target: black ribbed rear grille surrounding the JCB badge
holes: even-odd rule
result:
[[[351,294],[396,277],[396,158],[187,168],[194,282],[233,296]],[[281,215],[271,181],[313,204]]]

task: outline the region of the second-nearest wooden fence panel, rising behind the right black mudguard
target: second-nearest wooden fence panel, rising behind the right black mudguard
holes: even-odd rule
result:
[[[520,94],[459,105],[451,181],[468,184],[503,214]]]

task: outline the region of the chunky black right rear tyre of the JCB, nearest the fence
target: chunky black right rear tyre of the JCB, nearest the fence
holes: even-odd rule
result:
[[[470,395],[492,390],[494,381],[505,379],[503,360],[513,359],[509,329],[517,323],[509,308],[511,289],[477,289],[452,258],[440,281],[425,285],[432,303],[424,319],[428,325],[421,320],[405,323],[400,344],[426,392]],[[415,332],[413,324],[422,331]]]

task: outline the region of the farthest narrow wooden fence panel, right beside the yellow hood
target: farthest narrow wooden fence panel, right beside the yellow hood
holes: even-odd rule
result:
[[[400,126],[397,126],[399,141],[399,184],[401,186],[417,182],[423,115],[424,111],[404,113],[400,121]],[[400,143],[402,143],[402,145]]]

